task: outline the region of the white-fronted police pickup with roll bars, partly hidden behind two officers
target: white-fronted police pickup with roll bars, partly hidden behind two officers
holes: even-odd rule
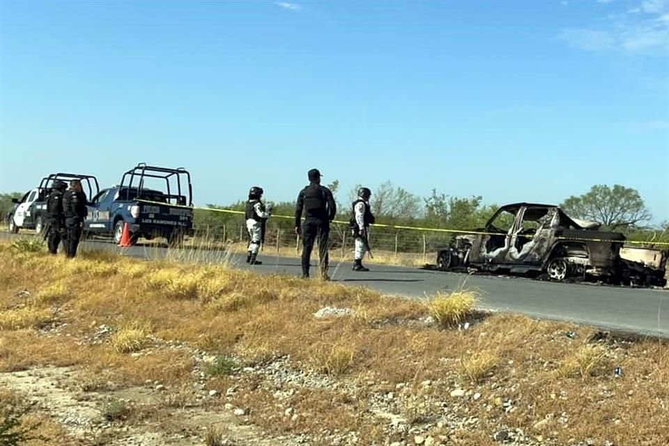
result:
[[[86,197],[90,198],[100,190],[98,180],[91,175],[59,173],[42,178],[40,185],[26,192],[21,199],[12,199],[14,206],[6,215],[10,233],[18,233],[20,229],[35,229],[37,233],[42,233],[47,224],[47,195],[56,181],[68,183],[70,180],[82,182]]]

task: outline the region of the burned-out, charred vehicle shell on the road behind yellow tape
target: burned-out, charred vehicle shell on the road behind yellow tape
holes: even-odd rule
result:
[[[663,286],[666,252],[654,267],[623,259],[625,236],[600,231],[594,222],[569,217],[538,203],[502,206],[481,229],[456,236],[438,249],[440,270],[473,268],[548,277],[554,281],[597,279],[608,283]],[[643,258],[645,254],[636,253]]]

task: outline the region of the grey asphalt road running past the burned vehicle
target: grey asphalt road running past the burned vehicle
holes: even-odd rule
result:
[[[249,266],[245,263],[245,255],[222,251],[193,252],[145,246],[119,248],[112,243],[100,241],[84,242],[82,249],[111,249],[141,259],[164,259],[169,255],[176,260],[187,258],[213,263],[226,262],[236,268],[253,268],[260,273],[301,275],[298,259],[264,254],[259,256],[259,260],[263,261],[262,265]],[[316,260],[315,257],[312,259],[312,276],[316,276]],[[667,291],[594,284],[557,284],[518,277],[465,275],[399,266],[367,266],[371,269],[370,272],[353,272],[351,263],[332,261],[330,277],[333,282],[369,286],[385,294],[413,298],[426,298],[438,291],[457,289],[464,284],[467,288],[479,291],[479,307],[482,309],[669,337]]]

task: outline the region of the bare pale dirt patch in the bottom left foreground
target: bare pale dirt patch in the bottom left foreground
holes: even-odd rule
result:
[[[226,410],[203,407],[169,408],[169,413],[152,419],[147,414],[164,410],[162,387],[127,387],[108,392],[73,391],[81,376],[75,367],[40,367],[0,374],[0,386],[17,392],[27,401],[36,401],[38,410],[47,413],[66,428],[70,440],[86,444],[118,446],[195,446],[202,445],[207,429],[222,433],[222,444],[270,445],[251,424],[240,424],[238,417]],[[111,404],[144,412],[144,420],[133,424],[107,418]],[[121,410],[116,409],[116,410]],[[161,419],[167,417],[167,419]],[[164,429],[165,424],[171,424]],[[176,431],[176,433],[167,433]],[[100,443],[102,442],[102,443]],[[240,443],[244,442],[244,443]],[[290,443],[284,443],[286,445]]]

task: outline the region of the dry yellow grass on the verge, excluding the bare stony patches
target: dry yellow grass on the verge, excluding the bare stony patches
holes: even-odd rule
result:
[[[0,280],[8,284],[0,288],[4,305],[0,315],[29,303],[30,312],[49,316],[54,312],[54,321],[63,323],[55,336],[30,328],[3,329],[0,371],[44,364],[83,367],[89,376],[95,376],[86,380],[86,389],[100,391],[107,382],[137,386],[157,380],[171,392],[160,405],[172,406],[169,410],[174,411],[188,403],[180,389],[193,384],[196,367],[189,351],[172,350],[160,341],[174,340],[203,348],[209,355],[240,360],[239,367],[232,369],[233,376],[210,378],[208,388],[224,394],[229,387],[240,386],[230,402],[249,408],[252,423],[268,433],[316,435],[324,429],[339,429],[356,431],[370,443],[383,444],[386,424],[365,415],[369,414],[367,401],[373,392],[395,392],[401,413],[415,422],[429,420],[436,425],[430,418],[435,413],[431,404],[448,401],[452,385],[460,382],[463,389],[479,392],[482,398],[463,399],[453,406],[454,416],[479,420],[472,428],[475,430],[445,431],[454,444],[491,444],[491,430],[500,423],[530,432],[537,420],[561,413],[569,414],[569,429],[551,426],[548,433],[555,431],[550,438],[553,444],[573,443],[572,438],[624,445],[666,443],[666,433],[658,426],[666,421],[662,401],[669,395],[669,353],[666,344],[659,341],[638,341],[625,348],[614,344],[602,344],[599,350],[582,348],[587,344],[579,344],[564,332],[574,330],[578,332],[576,339],[589,339],[591,328],[501,314],[477,320],[468,330],[457,330],[449,324],[470,321],[475,293],[465,298],[458,295],[459,305],[442,302],[450,296],[440,295],[436,298],[440,305],[429,308],[424,302],[385,298],[369,289],[340,284],[257,276],[216,266],[102,255],[97,259],[98,255],[81,259],[90,263],[81,271],[82,280],[68,282],[68,295],[63,297],[66,305],[52,306],[37,298],[22,301],[15,293],[27,289],[36,295],[58,283],[63,279],[61,265],[56,262],[54,266],[54,258],[45,254],[19,254],[0,243],[0,263],[8,266],[0,272]],[[108,274],[98,274],[104,268],[96,263],[114,268],[107,269]],[[36,277],[36,269],[43,274]],[[157,274],[160,270],[167,272]],[[151,285],[147,277],[153,277]],[[193,277],[197,277],[194,287],[190,285]],[[348,307],[355,312],[351,317],[314,318],[314,312],[325,306]],[[432,310],[440,315],[436,320],[445,321],[445,329],[419,321]],[[144,346],[138,357],[120,353],[111,340],[90,344],[101,324],[113,327],[119,320],[146,321],[156,340]],[[130,341],[120,344],[134,345],[132,339],[138,338],[146,339],[146,335],[128,337]],[[606,357],[600,354],[601,349]],[[611,355],[617,356],[615,365],[624,370],[621,379],[611,376]],[[282,404],[294,408],[298,415],[309,416],[286,417],[284,408],[277,410],[272,384],[268,386],[244,371],[248,364],[262,365],[277,357],[289,357],[291,367],[305,374],[320,370],[353,383],[361,389],[360,394],[351,396],[339,387],[300,388]],[[197,367],[203,370],[201,363]],[[557,369],[574,378],[589,376],[588,385],[551,374]],[[605,370],[611,373],[599,373]],[[494,379],[485,379],[491,371]],[[424,380],[438,384],[422,389]],[[403,406],[401,392],[395,390],[399,383],[403,389],[420,387],[419,397],[425,400],[411,400]],[[601,396],[604,387],[611,390],[606,399]],[[514,401],[514,411],[498,406],[497,401],[505,399]],[[212,399],[208,404],[217,408],[216,404],[226,401]],[[175,420],[167,414],[160,416]],[[620,422],[616,424],[616,420]],[[635,429],[629,429],[631,425]]]

